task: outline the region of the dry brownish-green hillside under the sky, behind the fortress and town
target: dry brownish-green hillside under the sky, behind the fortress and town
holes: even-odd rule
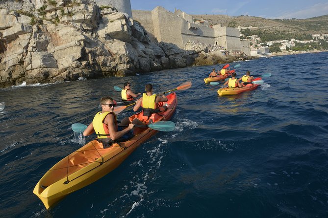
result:
[[[207,20],[209,24],[222,26],[253,26],[266,32],[289,32],[292,34],[327,34],[328,33],[328,15],[314,17],[309,19],[265,19],[252,16],[231,17],[227,15],[192,15],[196,20]]]

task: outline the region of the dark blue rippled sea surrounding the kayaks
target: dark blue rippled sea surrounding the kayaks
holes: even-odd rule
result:
[[[257,89],[219,96],[213,67],[0,89],[1,218],[327,218],[328,52],[230,63],[271,73]],[[114,86],[177,91],[176,129],[158,132],[118,168],[50,210],[32,191],[95,136],[76,135]],[[120,113],[119,119],[132,114]]]

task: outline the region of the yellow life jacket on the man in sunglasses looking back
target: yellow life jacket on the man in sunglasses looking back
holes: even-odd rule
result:
[[[116,115],[114,112],[107,111],[107,112],[101,113],[101,111],[99,111],[92,120],[93,129],[95,130],[98,138],[110,138],[108,126],[103,123],[103,120],[105,119],[105,117],[107,116],[108,113],[111,113],[114,115],[115,125],[117,128],[117,120],[116,120]]]

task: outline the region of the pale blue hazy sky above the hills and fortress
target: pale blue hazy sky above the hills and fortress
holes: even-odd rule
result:
[[[156,6],[187,14],[249,15],[268,19],[306,19],[328,15],[328,0],[130,0],[132,10]]]

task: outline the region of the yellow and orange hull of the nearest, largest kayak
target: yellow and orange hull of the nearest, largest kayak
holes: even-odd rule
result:
[[[169,94],[168,109],[152,114],[154,122],[169,120],[177,107],[177,95]],[[148,117],[132,115],[148,123]],[[144,143],[158,131],[150,128],[138,128],[139,132],[131,139],[120,144],[115,143],[104,149],[101,142],[92,140],[80,149],[69,154],[55,164],[36,184],[33,193],[49,209],[65,196],[79,190],[117,168],[140,144]]]

